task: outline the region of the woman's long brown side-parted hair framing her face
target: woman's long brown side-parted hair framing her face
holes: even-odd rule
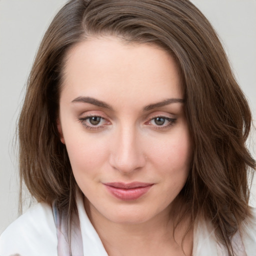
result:
[[[76,43],[109,34],[157,44],[175,58],[193,144],[179,197],[191,226],[199,215],[210,219],[233,255],[231,236],[250,216],[248,174],[255,161],[245,141],[251,114],[214,29],[188,0],[69,0],[62,7],[42,39],[27,83],[18,124],[21,179],[38,201],[56,201],[69,218],[76,211],[77,184],[56,127],[63,66]]]

